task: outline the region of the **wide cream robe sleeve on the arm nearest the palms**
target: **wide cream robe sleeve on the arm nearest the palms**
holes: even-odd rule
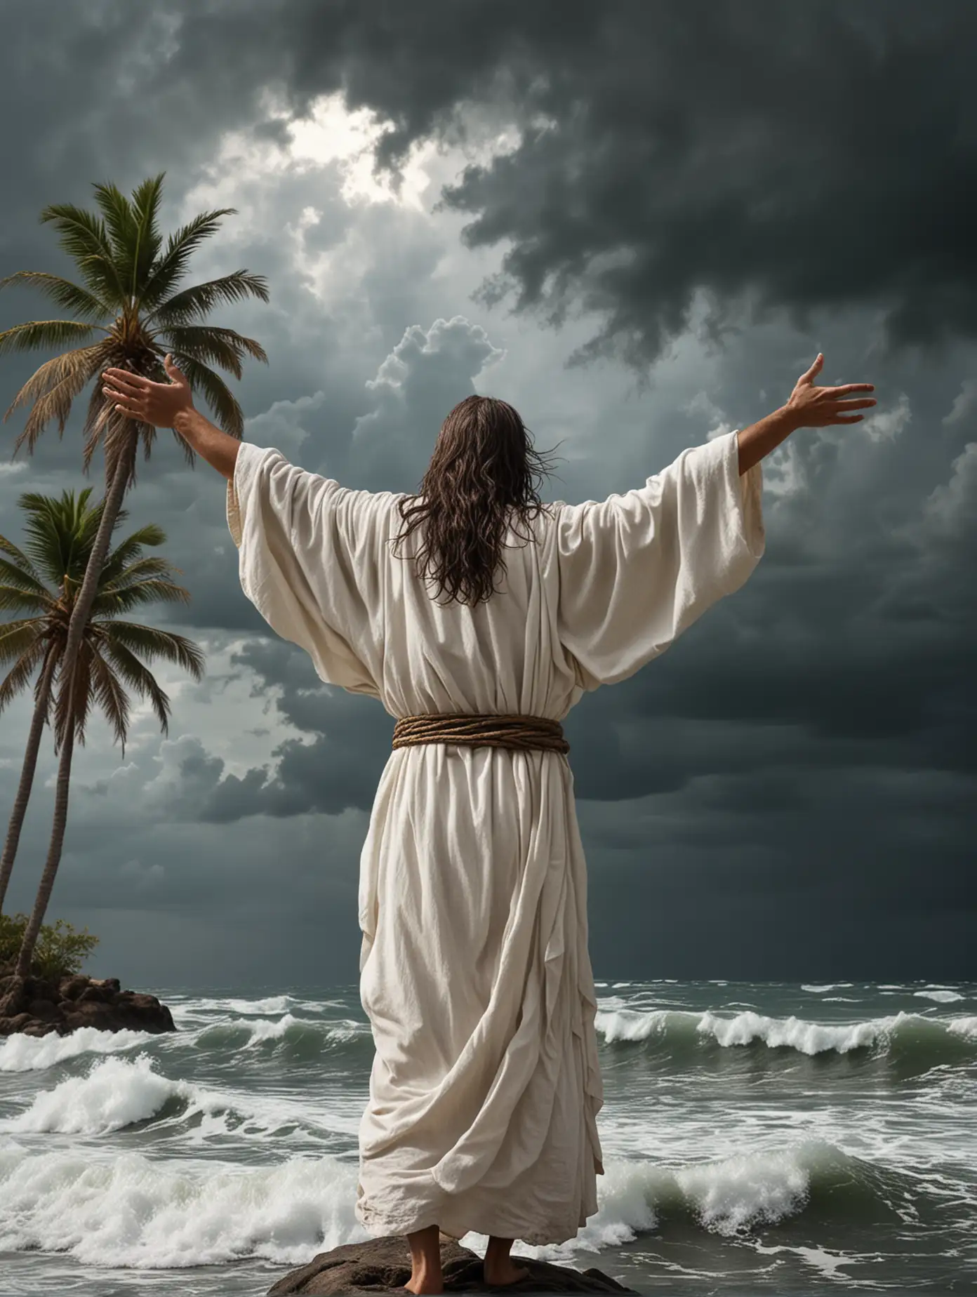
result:
[[[372,525],[376,499],[241,442],[227,482],[227,525],[241,589],[320,680],[380,696],[383,634]]]

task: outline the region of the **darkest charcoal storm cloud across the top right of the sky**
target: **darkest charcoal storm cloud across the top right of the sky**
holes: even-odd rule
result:
[[[580,358],[642,364],[701,288],[716,336],[746,301],[801,326],[873,302],[893,346],[973,337],[976,38],[963,3],[285,0],[187,13],[167,75],[200,86],[222,49],[284,73],[298,112],[341,87],[392,121],[394,166],[463,105],[505,105],[519,147],[445,192],[468,245],[511,243],[484,300],[596,309]]]

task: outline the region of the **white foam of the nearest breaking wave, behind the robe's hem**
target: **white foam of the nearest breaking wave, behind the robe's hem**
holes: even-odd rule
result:
[[[663,1208],[692,1213],[732,1235],[804,1205],[820,1162],[839,1156],[816,1143],[668,1169],[609,1161],[598,1211],[561,1246],[516,1245],[523,1255],[599,1252],[654,1230]],[[357,1163],[331,1154],[275,1166],[160,1162],[141,1153],[32,1153],[0,1141],[0,1252],[40,1248],[83,1265],[162,1268],[243,1257],[304,1263],[366,1237],[356,1222]],[[464,1244],[485,1241],[466,1235]]]

